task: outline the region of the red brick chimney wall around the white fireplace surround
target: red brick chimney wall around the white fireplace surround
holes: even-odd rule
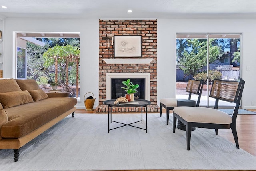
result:
[[[99,20],[99,27],[99,105],[106,100],[106,73],[121,72],[150,73],[150,101],[151,104],[157,104],[157,20]],[[114,58],[114,46],[112,46],[114,35],[141,35],[142,57],[139,58],[153,58],[152,62],[150,64],[106,64],[103,59]],[[110,39],[109,50],[108,39]]]

